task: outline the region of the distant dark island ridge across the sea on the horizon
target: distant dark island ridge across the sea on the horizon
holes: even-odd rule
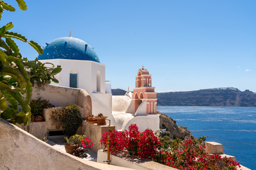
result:
[[[125,95],[125,90],[112,89],[112,95]],[[157,93],[157,106],[256,106],[256,94],[237,88],[213,88],[195,91]]]

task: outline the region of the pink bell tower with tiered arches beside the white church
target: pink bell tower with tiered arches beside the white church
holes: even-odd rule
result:
[[[136,113],[140,104],[146,100],[147,114],[157,114],[156,112],[156,94],[155,87],[151,86],[152,79],[147,69],[139,69],[135,80],[132,99],[134,99],[134,113]]]

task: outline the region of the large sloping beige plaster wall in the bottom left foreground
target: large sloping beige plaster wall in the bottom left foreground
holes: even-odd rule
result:
[[[0,169],[120,169],[117,166],[91,162],[55,149],[2,118],[0,118],[0,136]]]

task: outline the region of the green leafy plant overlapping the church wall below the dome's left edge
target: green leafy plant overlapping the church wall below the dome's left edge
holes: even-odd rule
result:
[[[44,66],[45,64],[51,64],[51,67]],[[41,87],[45,83],[51,83],[53,81],[54,83],[59,83],[57,79],[55,79],[54,75],[61,72],[61,66],[57,65],[56,68],[54,68],[54,65],[52,63],[41,63],[36,58],[34,61],[27,61],[24,63],[25,66],[29,69],[30,74],[30,82],[34,86],[34,82],[38,84],[38,87]]]

